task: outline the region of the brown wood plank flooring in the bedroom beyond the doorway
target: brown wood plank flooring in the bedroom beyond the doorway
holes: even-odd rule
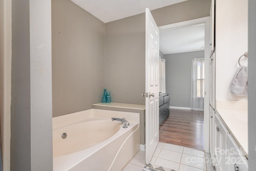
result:
[[[170,109],[159,126],[159,142],[204,149],[204,112]]]

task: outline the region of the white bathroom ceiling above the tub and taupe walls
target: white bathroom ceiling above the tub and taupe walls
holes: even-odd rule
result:
[[[102,22],[107,23],[186,0],[72,0]]]

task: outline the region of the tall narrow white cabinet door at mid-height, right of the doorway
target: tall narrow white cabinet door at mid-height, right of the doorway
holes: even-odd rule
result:
[[[210,105],[215,108],[215,53],[210,58]]]

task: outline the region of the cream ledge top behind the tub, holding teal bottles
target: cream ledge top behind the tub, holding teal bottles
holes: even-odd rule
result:
[[[141,104],[128,104],[128,103],[96,103],[92,104],[93,106],[106,106],[106,107],[114,107],[114,108],[127,108],[127,109],[137,109],[137,110],[146,110],[145,105]]]

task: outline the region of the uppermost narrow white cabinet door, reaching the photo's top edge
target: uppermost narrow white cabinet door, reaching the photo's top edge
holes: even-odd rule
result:
[[[214,51],[214,18],[215,18],[215,0],[212,0],[210,9],[210,56]]]

